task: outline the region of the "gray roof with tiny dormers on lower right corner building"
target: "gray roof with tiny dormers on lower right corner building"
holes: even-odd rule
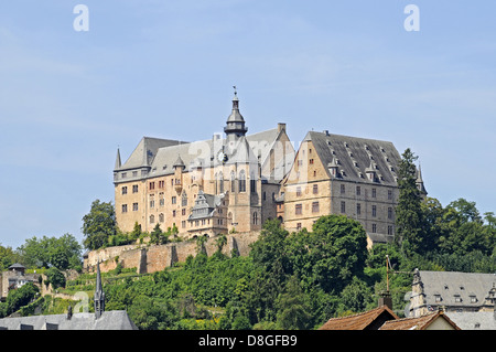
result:
[[[494,274],[423,270],[419,274],[429,306],[481,307],[496,284]],[[441,301],[436,301],[436,295],[441,296]]]

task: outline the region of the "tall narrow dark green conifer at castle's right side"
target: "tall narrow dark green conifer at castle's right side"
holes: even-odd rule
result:
[[[421,198],[416,184],[417,168],[413,163],[417,158],[410,148],[407,148],[398,168],[399,198],[396,207],[395,242],[407,253],[424,249]]]

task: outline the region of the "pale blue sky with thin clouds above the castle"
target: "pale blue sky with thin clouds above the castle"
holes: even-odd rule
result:
[[[211,138],[233,85],[249,132],[389,140],[420,157],[443,205],[496,212],[495,14],[483,0],[3,1],[0,244],[83,239],[90,203],[114,200],[117,148]]]

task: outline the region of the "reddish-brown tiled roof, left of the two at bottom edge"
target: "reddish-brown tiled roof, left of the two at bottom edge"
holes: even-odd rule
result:
[[[332,318],[319,330],[377,330],[384,321],[391,319],[398,319],[398,316],[382,306],[354,316]]]

